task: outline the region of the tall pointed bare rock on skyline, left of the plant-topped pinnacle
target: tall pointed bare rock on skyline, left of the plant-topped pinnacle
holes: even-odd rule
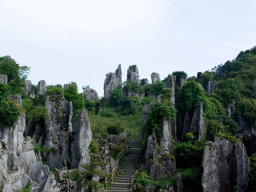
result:
[[[106,79],[104,82],[104,98],[110,97],[110,92],[115,88],[122,86],[122,70],[121,65],[118,65],[115,73],[106,74]]]

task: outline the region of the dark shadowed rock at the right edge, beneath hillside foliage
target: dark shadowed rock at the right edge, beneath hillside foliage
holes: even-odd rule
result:
[[[238,128],[238,132],[242,134],[256,133],[254,126],[244,119],[243,112],[241,109],[238,110]]]

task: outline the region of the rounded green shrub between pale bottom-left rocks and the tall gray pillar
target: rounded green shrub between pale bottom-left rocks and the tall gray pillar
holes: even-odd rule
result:
[[[43,118],[48,117],[48,111],[44,106],[34,106],[31,110],[28,111],[26,119],[34,123],[40,122]]]

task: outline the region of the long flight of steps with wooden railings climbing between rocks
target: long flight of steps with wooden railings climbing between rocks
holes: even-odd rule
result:
[[[122,163],[119,165],[123,174],[119,175],[115,182],[108,187],[108,192],[125,192],[130,189],[131,176],[136,172],[135,165],[137,162],[136,156],[140,153],[140,144],[138,139],[128,139],[130,141],[131,154],[125,156]]]

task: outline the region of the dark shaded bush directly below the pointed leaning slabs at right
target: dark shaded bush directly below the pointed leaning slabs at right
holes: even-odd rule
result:
[[[192,144],[190,141],[178,144],[174,147],[176,164],[179,167],[199,166],[201,164],[205,141],[200,139]]]

